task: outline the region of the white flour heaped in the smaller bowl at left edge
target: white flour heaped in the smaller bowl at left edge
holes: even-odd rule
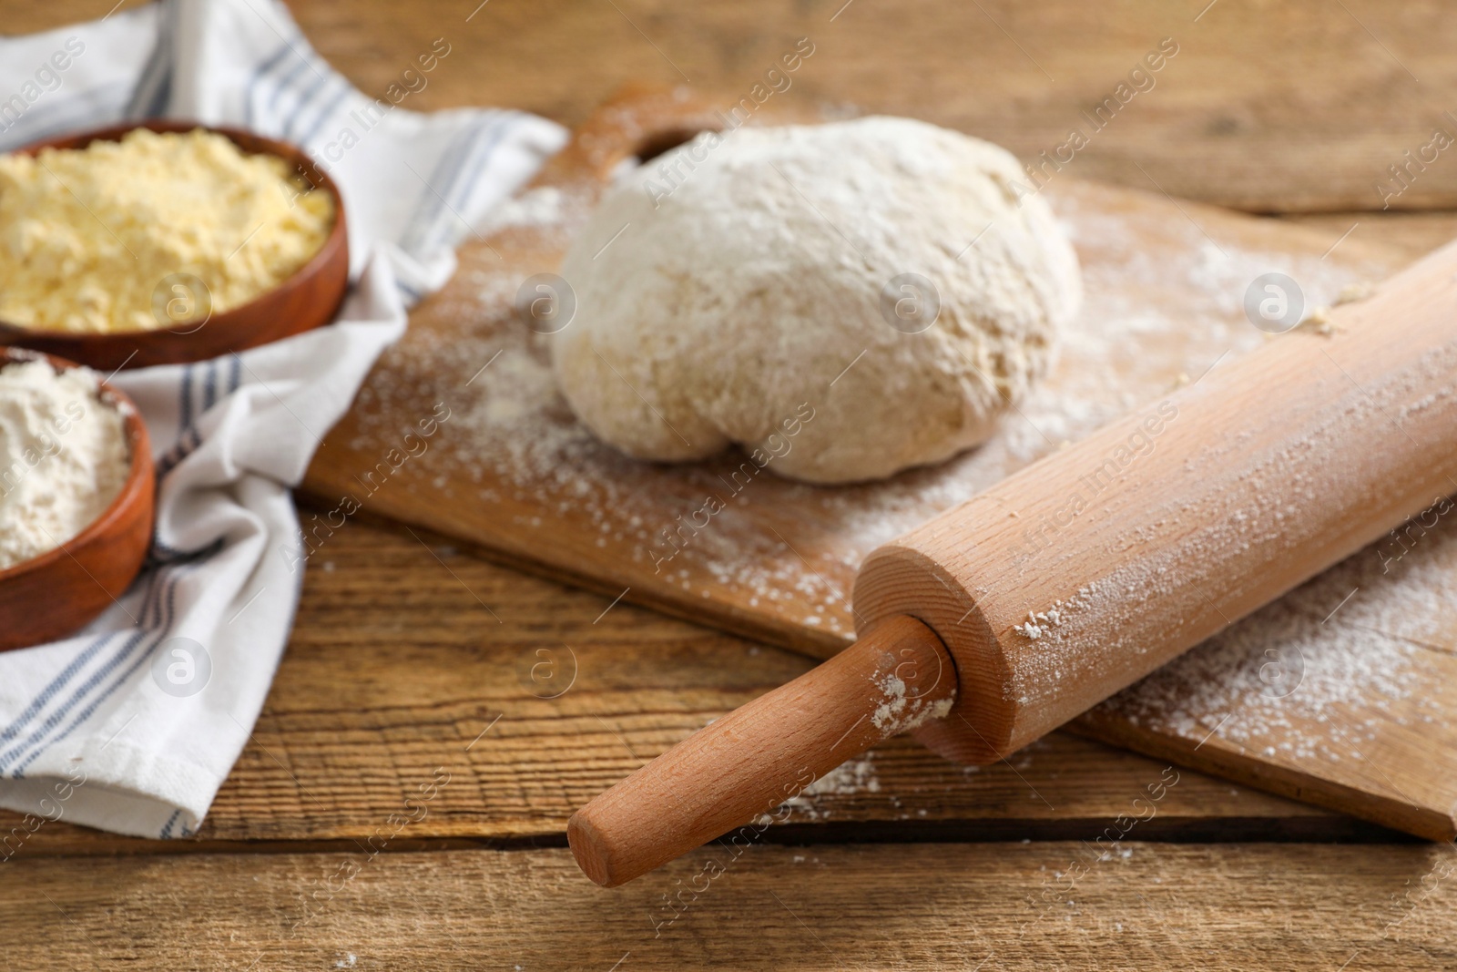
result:
[[[122,415],[96,373],[0,367],[0,570],[55,549],[99,517],[131,465]]]

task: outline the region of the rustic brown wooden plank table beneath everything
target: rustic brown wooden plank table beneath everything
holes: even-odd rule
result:
[[[1457,159],[1389,200],[1400,213],[1381,213],[1375,188],[1434,125],[1457,134],[1442,114],[1457,112],[1457,17],[1206,1],[370,0],[294,13],[366,92],[446,38],[409,106],[514,105],[568,124],[629,79],[686,76],[736,101],[810,36],[814,58],[777,98],[914,114],[1024,157],[1173,36],[1179,55],[1078,154],[1080,176],[1413,256],[1457,236],[1440,211],[1457,208]],[[4,26],[109,6],[7,4]],[[564,839],[576,806],[809,665],[351,522],[310,563],[254,740],[201,834],[41,828],[0,869],[4,965],[1457,965],[1453,847],[1067,734],[982,771],[893,740],[737,857],[711,847],[612,892],[577,871]],[[1131,823],[1150,787],[1164,788],[1155,816]],[[712,880],[710,855],[724,866]]]

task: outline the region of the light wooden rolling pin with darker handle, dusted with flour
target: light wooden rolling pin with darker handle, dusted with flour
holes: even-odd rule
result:
[[[858,641],[577,810],[605,886],[881,739],[998,761],[1457,493],[1457,243],[876,549]]]

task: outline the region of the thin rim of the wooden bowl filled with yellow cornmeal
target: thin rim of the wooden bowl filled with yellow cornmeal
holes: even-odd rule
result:
[[[329,227],[329,235],[323,238],[323,243],[319,246],[318,252],[313,254],[302,267],[294,270],[288,277],[281,280],[278,286],[270,287],[262,293],[254,296],[248,303],[240,303],[236,307],[230,307],[220,313],[214,313],[204,324],[220,324],[220,325],[236,325],[245,313],[254,309],[255,305],[267,297],[272,297],[286,290],[297,290],[306,281],[318,277],[328,262],[334,258],[335,251],[347,243],[348,223],[344,219],[344,195],[339,192],[339,187],[334,182],[334,178],[325,172],[307,152],[293,144],[291,141],[284,141],[283,138],[272,138],[270,136],[259,134],[256,131],[249,131],[248,128],[236,128],[232,125],[204,125],[195,121],[184,121],[176,118],[144,118],[136,122],[122,122],[118,125],[103,125],[101,128],[86,128],[82,131],[73,131],[66,136],[52,136],[50,138],[41,138],[39,141],[32,141],[29,144],[13,149],[6,154],[39,154],[42,149],[85,149],[93,141],[121,141],[128,133],[138,128],[146,128],[147,131],[156,133],[185,133],[197,131],[211,131],[223,136],[232,141],[243,154],[272,154],[284,162],[294,166],[296,171],[307,172],[303,178],[313,184],[315,188],[323,188],[334,198],[334,224]],[[243,141],[248,140],[261,146],[265,152],[258,152],[249,149]],[[79,143],[79,144],[73,144]],[[313,178],[318,176],[318,182]],[[262,325],[259,325],[262,326]],[[176,334],[170,328],[138,328],[134,331],[48,331],[45,328],[28,328],[22,324],[13,324],[10,321],[0,319],[0,329],[9,331],[12,334],[23,334],[35,340],[63,340],[63,341],[90,341],[105,338],[108,341],[136,338],[144,340],[147,335],[156,334]],[[184,335],[185,337],[185,335]],[[66,358],[61,358],[66,360]],[[3,574],[0,574],[3,577]]]

